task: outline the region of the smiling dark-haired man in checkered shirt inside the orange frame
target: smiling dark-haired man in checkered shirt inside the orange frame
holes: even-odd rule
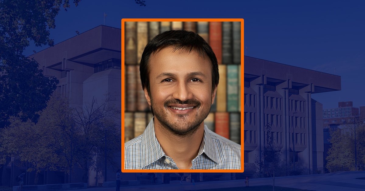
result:
[[[202,37],[184,30],[157,35],[143,51],[140,73],[154,118],[125,144],[125,169],[241,168],[241,146],[203,123],[219,73]]]

